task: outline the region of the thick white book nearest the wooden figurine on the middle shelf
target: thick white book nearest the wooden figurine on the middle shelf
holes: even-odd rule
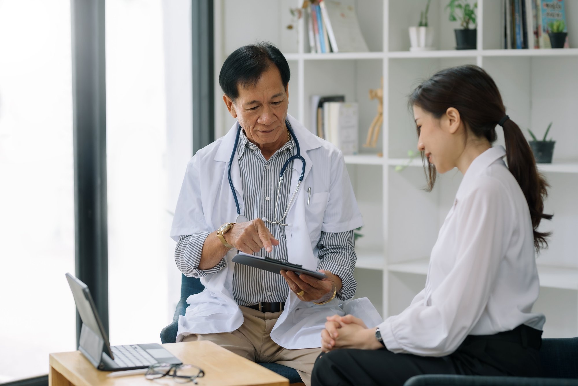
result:
[[[357,103],[325,102],[323,112],[327,140],[338,147],[344,155],[357,154]]]

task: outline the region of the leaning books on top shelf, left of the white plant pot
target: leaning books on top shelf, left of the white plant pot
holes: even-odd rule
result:
[[[303,8],[312,53],[369,51],[353,3],[313,0],[306,1]]]

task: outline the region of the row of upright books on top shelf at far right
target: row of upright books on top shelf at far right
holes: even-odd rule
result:
[[[566,23],[564,0],[502,0],[502,49],[551,48],[549,24],[557,20]]]

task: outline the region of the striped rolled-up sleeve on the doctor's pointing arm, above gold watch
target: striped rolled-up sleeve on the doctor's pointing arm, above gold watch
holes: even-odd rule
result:
[[[203,245],[210,232],[197,232],[188,236],[180,236],[175,247],[175,262],[180,272],[188,277],[203,277],[216,273],[225,266],[225,259],[221,259],[216,266],[210,269],[199,269]]]

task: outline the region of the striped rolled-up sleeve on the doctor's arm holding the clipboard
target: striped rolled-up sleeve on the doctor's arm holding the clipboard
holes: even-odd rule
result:
[[[339,299],[353,298],[357,289],[357,281],[353,277],[357,261],[353,231],[338,233],[322,231],[317,247],[320,259],[317,269],[328,270],[339,276],[342,281],[341,290],[337,293]]]

